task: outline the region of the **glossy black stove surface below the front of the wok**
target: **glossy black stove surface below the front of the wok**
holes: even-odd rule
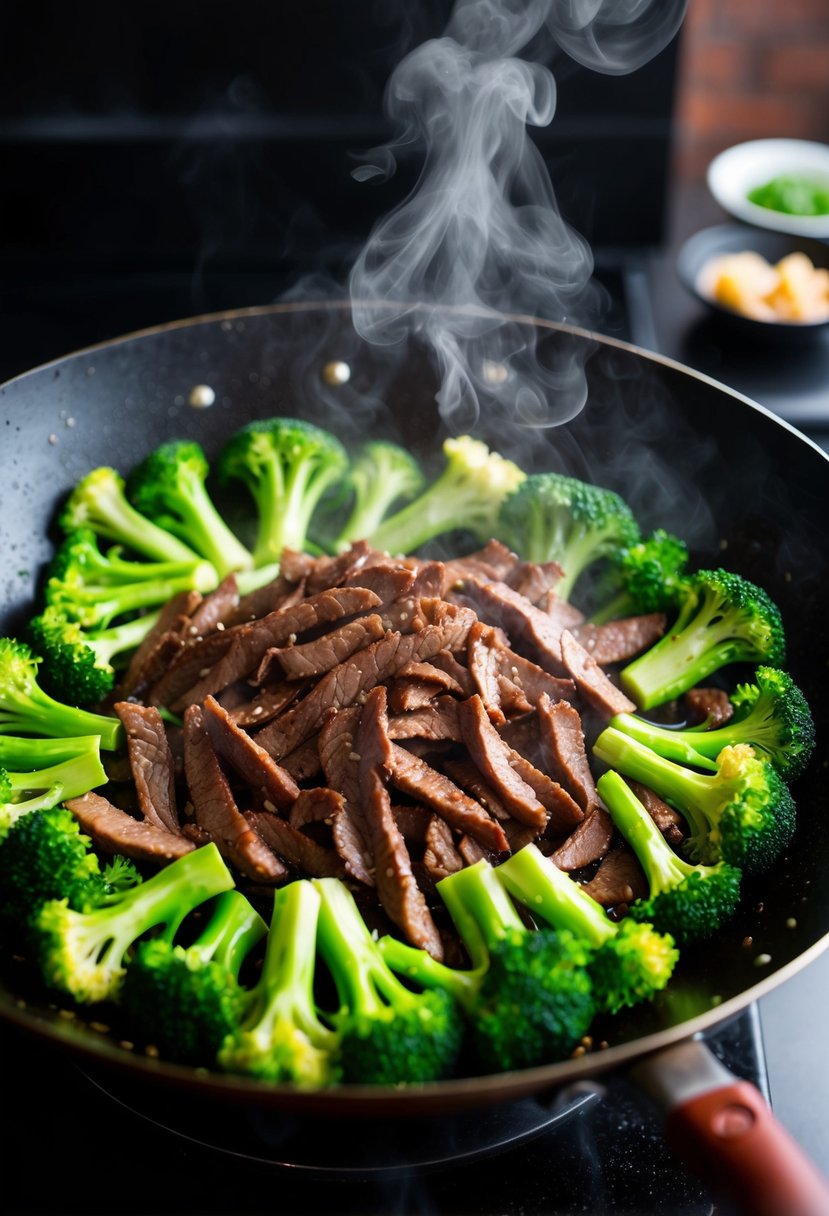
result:
[[[756,1007],[709,1043],[766,1088]],[[442,1138],[445,1160],[419,1167],[407,1164],[421,1152],[417,1125],[286,1124],[244,1110],[213,1118],[201,1100],[32,1051],[17,1032],[0,1038],[0,1077],[4,1108],[15,1111],[7,1216],[729,1216],[669,1153],[659,1113],[622,1076],[592,1093],[532,1099],[532,1111],[525,1100],[481,1113],[483,1156],[455,1160],[458,1118],[436,1120],[430,1135]],[[535,1119],[543,1126],[525,1135]],[[367,1144],[372,1160],[360,1169]]]

